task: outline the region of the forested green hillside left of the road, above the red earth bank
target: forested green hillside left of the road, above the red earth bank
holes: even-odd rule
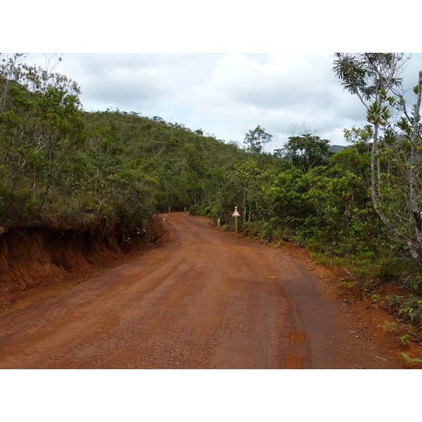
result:
[[[28,86],[34,75],[40,88]],[[32,69],[19,83],[1,79],[3,224],[89,224],[104,216],[139,224],[168,207],[199,207],[246,155],[159,117],[86,113],[77,87],[56,78]]]

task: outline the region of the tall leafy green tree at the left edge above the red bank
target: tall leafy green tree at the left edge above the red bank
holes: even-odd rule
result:
[[[79,87],[64,75],[1,56],[0,157],[4,218],[41,212],[83,124]],[[32,211],[30,211],[32,209]]]

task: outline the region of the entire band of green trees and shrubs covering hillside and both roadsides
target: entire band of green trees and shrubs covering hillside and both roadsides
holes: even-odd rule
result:
[[[408,105],[397,76],[404,56],[335,57],[335,75],[368,120],[345,129],[350,146],[335,154],[307,131],[267,153],[271,135],[260,126],[241,146],[160,117],[88,113],[76,82],[23,55],[0,59],[0,236],[105,218],[139,234],[153,214],[185,207],[233,230],[236,205],[243,234],[302,245],[344,269],[345,288],[370,295],[421,340],[422,76]],[[403,293],[381,296],[388,285]]]

